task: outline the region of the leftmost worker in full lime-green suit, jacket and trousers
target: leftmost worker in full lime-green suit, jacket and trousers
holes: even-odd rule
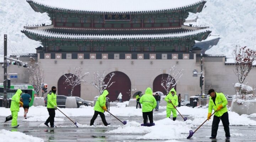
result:
[[[11,100],[11,108],[10,108],[11,114],[12,114],[11,127],[14,127],[14,128],[20,126],[17,123],[17,118],[18,118],[18,112],[20,111],[20,105],[21,107],[23,107],[23,103],[20,101],[21,93],[22,93],[21,89],[18,89],[14,94],[14,96],[12,96],[12,100]]]

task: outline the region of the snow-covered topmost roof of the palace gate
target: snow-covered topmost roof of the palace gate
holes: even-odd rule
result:
[[[53,10],[91,13],[154,13],[178,10],[201,12],[205,0],[27,0],[37,12],[38,6]],[[199,8],[198,5],[202,4]],[[190,10],[195,9],[195,10]]]

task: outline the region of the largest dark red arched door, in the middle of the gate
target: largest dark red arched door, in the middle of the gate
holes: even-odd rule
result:
[[[111,72],[112,73],[112,72]],[[108,82],[109,80],[109,73],[104,81]],[[119,93],[122,93],[122,101],[127,101],[130,100],[130,94],[129,94],[129,90],[131,89],[131,82],[130,82],[130,78],[123,72],[120,71],[114,71],[115,75],[112,77],[111,82],[114,81],[114,83],[112,84],[112,86],[106,88],[108,91],[108,95],[107,97],[110,98],[110,101],[116,101],[118,100],[117,97],[119,95]]]

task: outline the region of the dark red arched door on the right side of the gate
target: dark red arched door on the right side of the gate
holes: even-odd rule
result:
[[[168,77],[168,74],[164,73],[164,74],[158,75],[155,78],[153,82],[153,92],[160,91],[164,93],[164,95],[167,95],[167,92],[165,91],[164,87],[161,86],[162,79],[167,80],[167,77]],[[164,85],[166,85],[166,83],[164,83]],[[176,86],[174,87],[174,89],[176,90]]]

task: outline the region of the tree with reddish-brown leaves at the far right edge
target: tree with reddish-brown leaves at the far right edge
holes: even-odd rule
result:
[[[246,47],[238,47],[233,50],[235,60],[235,75],[238,77],[239,83],[243,83],[249,75],[256,61],[256,52]]]

